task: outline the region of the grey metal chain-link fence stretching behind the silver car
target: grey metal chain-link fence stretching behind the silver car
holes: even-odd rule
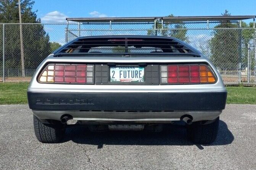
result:
[[[224,83],[255,85],[255,34],[241,22],[126,22],[22,24],[24,75],[19,24],[0,24],[0,81],[29,81],[53,50],[80,36],[162,35],[179,38],[201,51],[220,72]],[[3,42],[4,40],[4,42]]]

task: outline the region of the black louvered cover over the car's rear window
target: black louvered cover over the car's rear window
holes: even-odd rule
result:
[[[78,38],[59,53],[193,53],[173,38],[101,37]]]

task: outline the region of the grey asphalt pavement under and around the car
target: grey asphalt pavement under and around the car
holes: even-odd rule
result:
[[[187,141],[184,126],[163,132],[89,132],[69,125],[58,144],[35,138],[27,105],[0,105],[0,169],[256,170],[256,105],[228,104],[217,140]]]

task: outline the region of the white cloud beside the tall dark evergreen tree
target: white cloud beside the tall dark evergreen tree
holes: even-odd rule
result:
[[[41,21],[43,23],[66,23],[66,16],[63,13],[60,13],[59,11],[52,11],[47,13],[45,16],[41,18]]]

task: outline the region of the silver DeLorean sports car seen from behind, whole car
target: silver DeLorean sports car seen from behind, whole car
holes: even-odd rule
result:
[[[213,64],[172,37],[80,37],[49,55],[27,91],[37,139],[56,143],[68,120],[91,130],[159,130],[187,124],[212,143],[227,91]],[[104,127],[104,128],[102,128]]]

